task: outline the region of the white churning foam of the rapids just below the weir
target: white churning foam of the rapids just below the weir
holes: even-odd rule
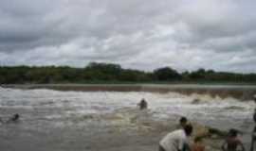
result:
[[[51,90],[15,90],[0,88],[2,109],[39,109],[46,118],[81,117],[104,114],[116,109],[137,108],[141,98],[155,112],[154,118],[187,116],[207,125],[243,126],[249,121],[254,103],[235,98],[211,97],[208,94],[184,95],[177,92],[58,92]],[[194,103],[194,100],[196,103]],[[28,115],[33,118],[33,114]],[[223,123],[223,124],[222,124]],[[227,125],[229,126],[229,125]]]

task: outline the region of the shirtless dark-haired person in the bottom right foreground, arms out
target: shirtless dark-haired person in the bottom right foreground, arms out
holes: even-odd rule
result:
[[[246,151],[244,144],[237,137],[238,131],[235,129],[229,130],[229,136],[222,144],[223,151],[236,151],[238,147],[241,147],[241,151]]]

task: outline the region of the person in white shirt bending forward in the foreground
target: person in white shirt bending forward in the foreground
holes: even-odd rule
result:
[[[185,151],[190,150],[189,137],[192,135],[192,126],[186,125],[168,133],[159,143],[159,151]]]

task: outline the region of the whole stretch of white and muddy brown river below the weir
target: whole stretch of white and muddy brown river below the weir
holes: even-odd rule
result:
[[[149,103],[149,109],[142,112],[137,109],[141,98]],[[0,126],[0,146],[9,151],[151,151],[180,116],[224,130],[238,128],[248,146],[253,109],[252,100],[209,94],[1,88],[3,121],[13,113],[20,113],[21,120]]]

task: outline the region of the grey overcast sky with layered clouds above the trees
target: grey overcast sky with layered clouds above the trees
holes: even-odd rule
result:
[[[256,1],[0,1],[0,65],[91,61],[256,72]]]

